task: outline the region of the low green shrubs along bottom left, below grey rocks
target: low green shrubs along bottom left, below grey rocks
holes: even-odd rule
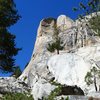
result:
[[[22,93],[8,93],[2,100],[34,100],[32,96]]]

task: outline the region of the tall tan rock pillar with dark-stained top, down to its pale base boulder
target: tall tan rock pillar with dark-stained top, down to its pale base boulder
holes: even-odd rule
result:
[[[25,82],[32,88],[32,94],[34,94],[36,100],[42,98],[43,95],[49,94],[54,89],[48,83],[52,78],[52,74],[48,70],[47,60],[52,54],[48,52],[47,45],[53,40],[55,24],[56,20],[52,18],[43,19],[40,22],[31,61],[20,76],[22,80],[26,77]],[[42,89],[43,87],[47,89]]]

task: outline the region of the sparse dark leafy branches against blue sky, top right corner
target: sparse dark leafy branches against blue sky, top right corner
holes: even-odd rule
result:
[[[74,7],[73,10],[81,12],[82,14],[79,14],[79,16],[91,15],[94,12],[97,14],[97,12],[100,11],[100,0],[81,1],[79,6]]]

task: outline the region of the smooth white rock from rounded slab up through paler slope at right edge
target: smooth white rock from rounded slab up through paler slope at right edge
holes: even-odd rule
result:
[[[66,85],[78,85],[86,88],[85,76],[93,67],[100,66],[100,45],[77,49],[75,53],[52,56],[48,61],[50,72],[55,80]],[[99,83],[97,83],[99,85]]]

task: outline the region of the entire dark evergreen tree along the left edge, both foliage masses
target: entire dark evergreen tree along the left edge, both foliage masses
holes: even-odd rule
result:
[[[20,18],[13,0],[0,0],[0,70],[12,72],[15,66],[14,56],[20,48],[16,48],[16,36],[8,31]]]

